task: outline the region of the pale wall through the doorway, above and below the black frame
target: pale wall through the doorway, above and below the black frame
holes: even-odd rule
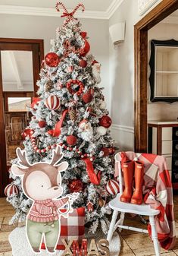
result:
[[[157,24],[148,30],[148,56],[150,55],[151,40],[178,40],[178,24]],[[148,103],[148,120],[175,120],[178,116],[176,103]]]

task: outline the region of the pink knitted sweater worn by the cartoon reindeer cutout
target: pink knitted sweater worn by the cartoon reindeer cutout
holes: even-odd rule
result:
[[[37,223],[48,223],[54,220],[58,220],[59,213],[58,209],[64,207],[67,204],[68,198],[61,198],[57,201],[47,199],[44,201],[34,201],[28,219],[33,220]]]

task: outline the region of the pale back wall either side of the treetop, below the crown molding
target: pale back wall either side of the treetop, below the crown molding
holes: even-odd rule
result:
[[[50,40],[55,38],[55,30],[61,27],[63,19],[59,17],[37,17],[13,14],[0,15],[0,36],[11,38],[43,39],[45,53],[51,47]],[[87,31],[91,52],[101,62],[101,87],[105,87],[105,98],[109,102],[109,32],[108,21],[80,19],[83,30]]]

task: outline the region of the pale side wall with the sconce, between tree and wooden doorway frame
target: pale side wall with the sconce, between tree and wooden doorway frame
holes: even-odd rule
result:
[[[158,1],[156,5],[161,1]],[[154,8],[155,5],[152,7]],[[151,9],[150,9],[151,10]],[[149,11],[150,11],[149,10]],[[145,13],[146,14],[146,13]],[[123,43],[114,49],[110,40],[111,115],[112,130],[120,150],[133,150],[134,145],[134,24],[139,17],[138,0],[123,0],[109,21],[109,26],[126,21]]]

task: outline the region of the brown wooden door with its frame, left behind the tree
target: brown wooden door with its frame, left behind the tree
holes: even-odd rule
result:
[[[43,40],[0,38],[0,148],[2,149],[0,153],[0,197],[4,196],[5,186],[9,183],[8,169],[10,160],[14,158],[15,147],[22,143],[21,131],[27,126],[27,112],[8,112],[6,108],[2,81],[2,51],[32,52],[33,96],[36,96],[36,81],[39,79],[40,64],[44,58]]]

